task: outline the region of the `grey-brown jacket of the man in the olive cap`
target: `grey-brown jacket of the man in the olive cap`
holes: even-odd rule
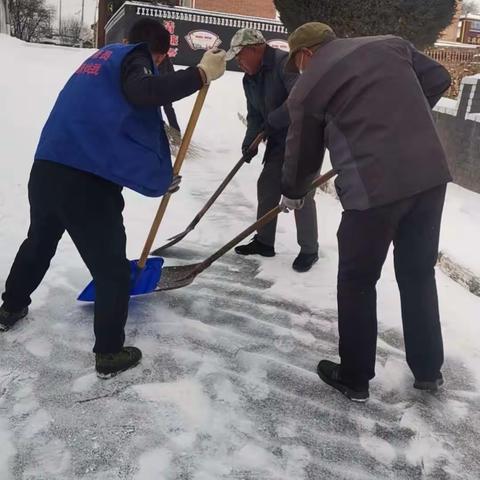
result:
[[[431,114],[450,81],[445,68],[398,37],[337,39],[321,47],[289,98],[283,194],[305,195],[325,147],[346,210],[450,181]]]

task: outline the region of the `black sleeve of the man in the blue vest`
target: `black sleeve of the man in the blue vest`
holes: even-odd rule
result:
[[[168,105],[203,87],[196,67],[153,75],[152,57],[143,47],[136,48],[125,57],[121,80],[127,100],[137,107]]]

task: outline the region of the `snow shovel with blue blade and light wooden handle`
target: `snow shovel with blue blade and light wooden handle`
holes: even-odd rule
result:
[[[185,135],[183,136],[182,144],[178,151],[177,158],[175,159],[175,164],[173,166],[173,175],[178,175],[182,168],[183,161],[187,154],[188,146],[190,145],[190,140],[192,139],[193,131],[197,125],[198,118],[202,111],[203,104],[208,92],[208,85],[205,85],[197,95],[195,100],[195,105],[193,106],[192,113],[190,115],[190,120],[185,130]],[[155,291],[157,284],[162,275],[162,266],[163,258],[148,258],[148,253],[152,248],[153,242],[155,241],[155,236],[157,235],[158,228],[162,222],[165,210],[167,209],[168,202],[170,201],[171,194],[166,193],[160,206],[158,208],[155,219],[153,220],[150,232],[148,234],[147,240],[143,247],[142,255],[140,260],[131,260],[130,261],[130,276],[131,276],[131,288],[130,295],[144,295],[146,293],[151,293]],[[93,302],[95,301],[95,285],[90,282],[89,285],[83,290],[79,295],[78,300],[82,302]]]

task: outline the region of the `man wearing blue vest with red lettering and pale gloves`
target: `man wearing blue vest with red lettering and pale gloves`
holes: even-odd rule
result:
[[[158,107],[191,95],[223,75],[225,52],[208,51],[197,67],[159,76],[170,34],[139,20],[130,45],[109,45],[88,58],[60,92],[45,124],[30,174],[30,228],[2,295],[0,331],[28,313],[65,231],[96,286],[97,375],[109,378],[138,364],[124,347],[130,266],[122,187],[158,197],[172,181],[168,140]]]

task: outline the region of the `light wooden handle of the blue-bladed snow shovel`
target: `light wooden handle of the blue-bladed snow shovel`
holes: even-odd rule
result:
[[[185,156],[187,155],[188,147],[190,146],[190,141],[192,140],[193,131],[195,130],[198,118],[200,117],[203,104],[205,103],[207,92],[208,85],[205,85],[198,92],[197,99],[195,100],[195,105],[193,106],[192,114],[190,115],[190,120],[188,121],[187,129],[185,130],[185,134],[182,139],[182,144],[180,145],[177,158],[175,159],[175,164],[173,165],[173,175],[178,175],[180,173],[183,161],[185,160]],[[170,197],[171,194],[167,192],[163,196],[162,201],[160,202],[160,206],[158,207],[157,214],[155,215],[155,219],[153,220],[152,226],[150,228],[147,241],[145,242],[145,245],[143,247],[142,255],[140,256],[140,260],[137,264],[139,269],[143,269],[145,267],[145,264],[147,263],[148,255],[152,248],[153,242],[155,241],[155,237],[157,236],[160,224],[162,223],[165,210],[167,209],[168,202],[170,201]]]

